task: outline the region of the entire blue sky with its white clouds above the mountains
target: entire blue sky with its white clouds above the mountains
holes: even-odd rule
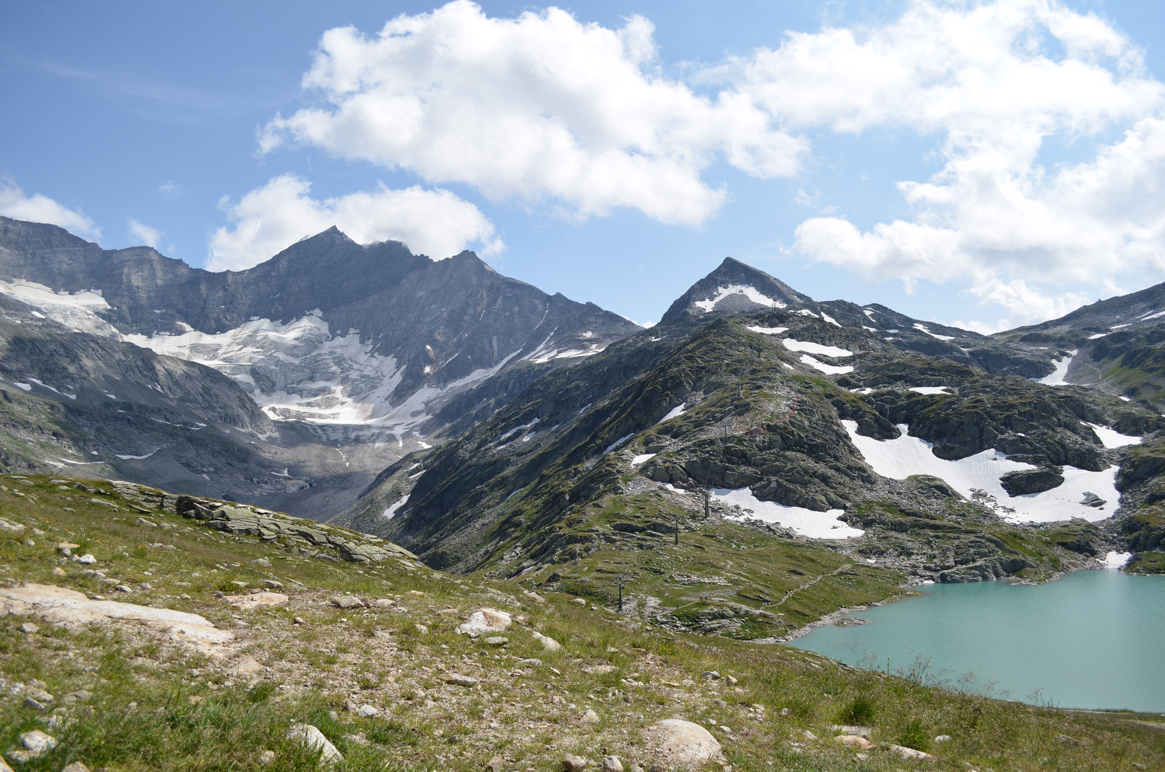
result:
[[[9,7],[0,213],[213,268],[334,223],[641,323],[725,255],[980,330],[1165,279],[1159,2],[563,8]]]

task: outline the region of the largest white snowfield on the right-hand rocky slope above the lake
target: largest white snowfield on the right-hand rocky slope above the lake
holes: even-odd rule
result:
[[[968,499],[975,490],[983,491],[995,498],[996,513],[1012,522],[1052,522],[1072,518],[1083,518],[1095,522],[1110,517],[1120,500],[1120,492],[1116,490],[1116,466],[1109,466],[1100,472],[1065,466],[1064,483],[1059,487],[1011,498],[1000,484],[1000,477],[1011,471],[1036,469],[1036,466],[1011,461],[994,449],[958,461],[946,461],[931,451],[931,443],[910,436],[905,423],[898,426],[902,431],[901,437],[884,441],[857,434],[856,421],[841,423],[866,463],[882,477],[906,479],[911,475],[932,475],[944,479],[947,485]],[[1081,504],[1086,492],[1104,499],[1104,506],[1092,507]]]

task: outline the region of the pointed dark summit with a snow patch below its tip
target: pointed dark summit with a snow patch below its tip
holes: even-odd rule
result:
[[[730,313],[785,308],[812,302],[785,282],[734,258],[723,261],[707,276],[680,295],[661,322],[709,313]]]

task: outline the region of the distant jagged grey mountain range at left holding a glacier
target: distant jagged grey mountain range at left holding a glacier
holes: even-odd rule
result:
[[[224,463],[183,473],[181,454],[163,463],[174,443],[122,442],[105,448],[111,471],[317,518],[348,506],[388,461],[496,409],[515,384],[638,329],[502,276],[469,252],[433,261],[336,229],[255,268],[211,273],[148,247],[103,250],[52,225],[0,218],[0,297],[23,309],[14,313],[26,325],[91,336],[91,349],[115,350],[120,339],[203,363],[264,414],[263,428],[220,454]],[[12,377],[54,383],[40,367],[56,355],[42,349]],[[245,470],[232,463],[242,456],[253,457]],[[240,473],[203,484],[226,468]]]

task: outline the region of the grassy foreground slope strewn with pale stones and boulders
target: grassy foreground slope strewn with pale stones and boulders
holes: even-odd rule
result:
[[[1165,769],[1159,716],[677,634],[278,513],[3,482],[14,769]]]

